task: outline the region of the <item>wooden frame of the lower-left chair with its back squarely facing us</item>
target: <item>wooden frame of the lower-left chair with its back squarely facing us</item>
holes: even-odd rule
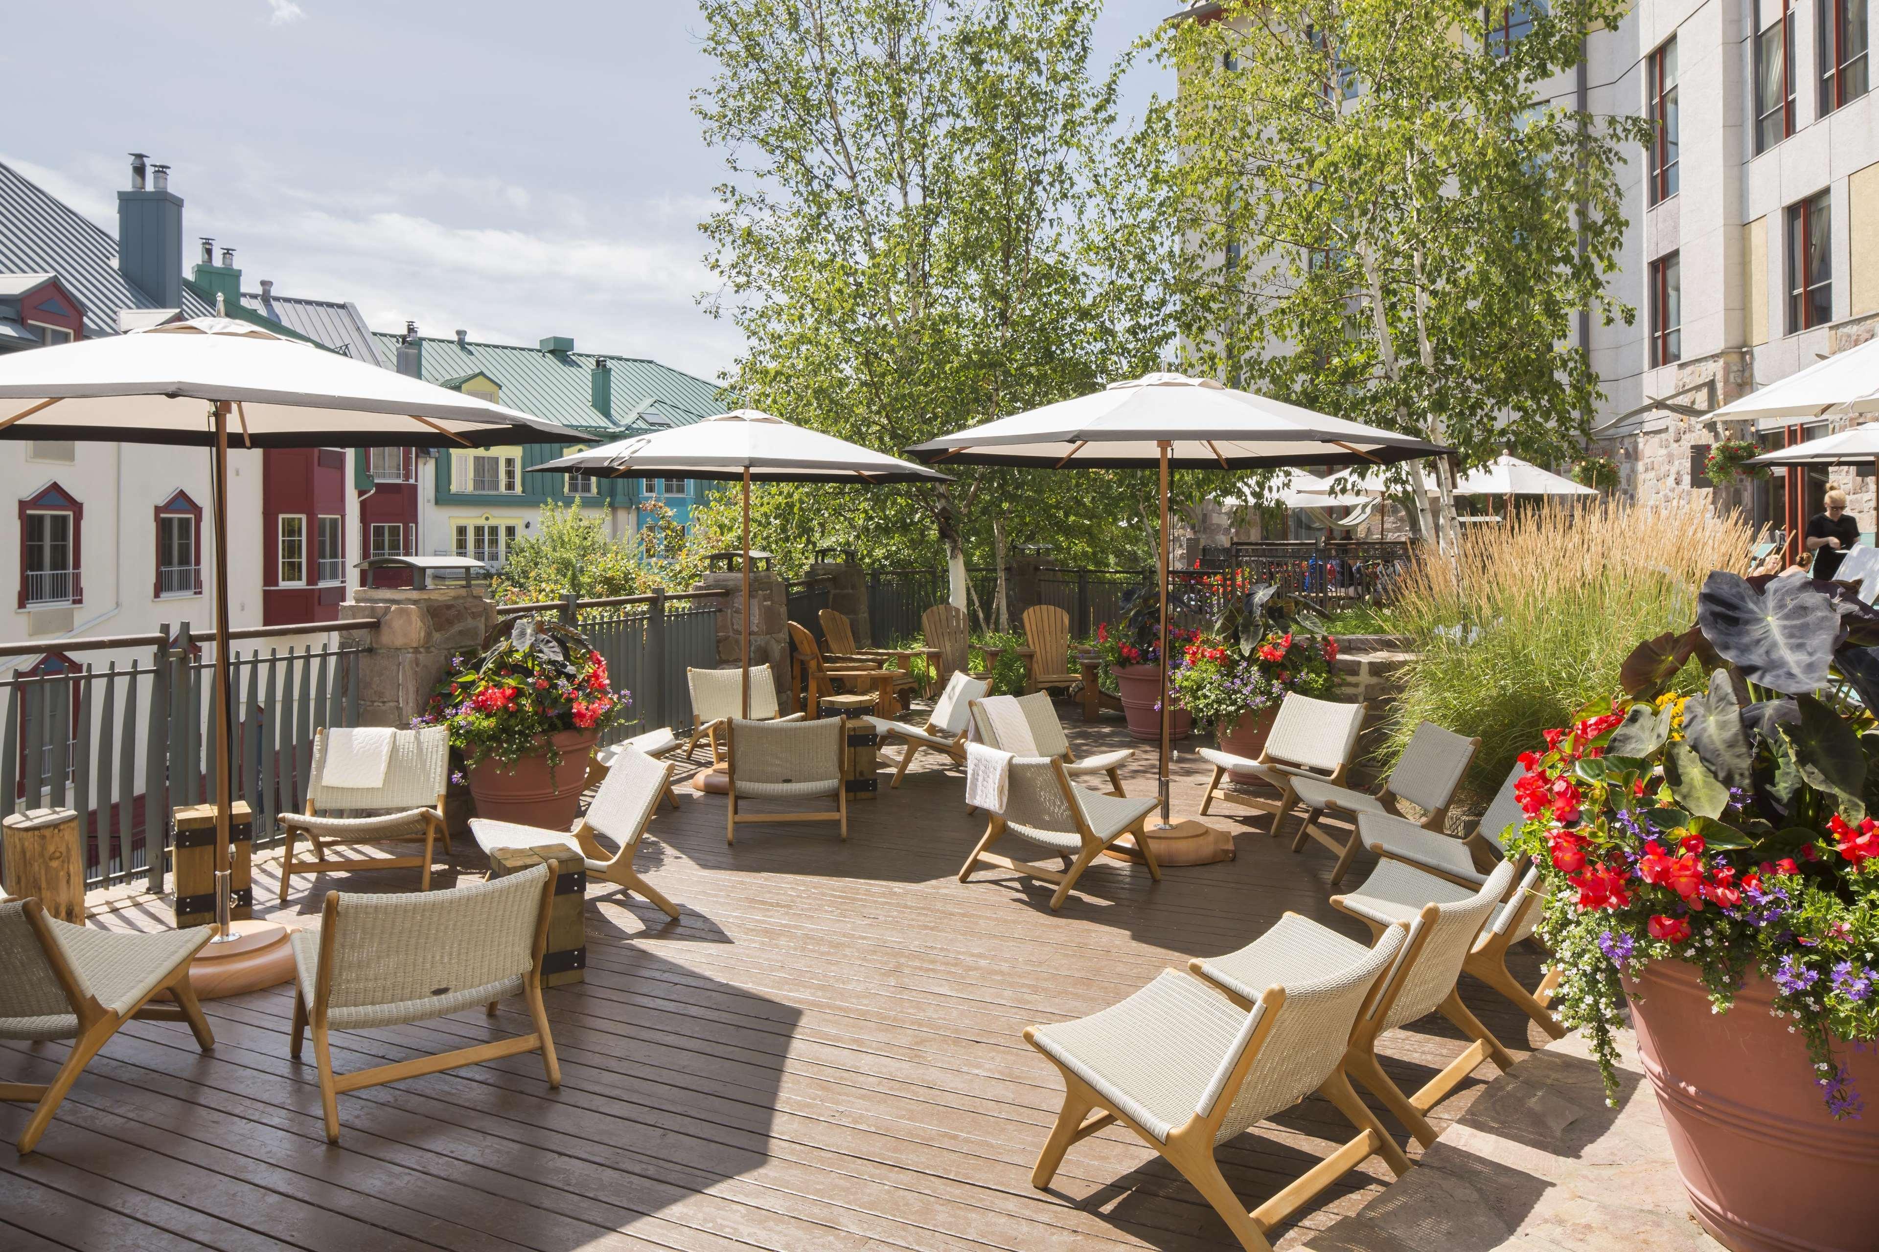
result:
[[[336,942],[334,922],[340,916],[340,893],[327,892],[325,905],[319,910],[319,972],[314,978],[314,1002],[308,1004],[304,1000],[301,993],[301,980],[295,976],[293,1031],[291,1042],[287,1044],[287,1055],[293,1061],[299,1061],[306,1029],[312,1027],[314,1068],[319,1074],[319,1111],[325,1117],[327,1143],[340,1141],[340,1096],[349,1091],[383,1087],[385,1083],[396,1083],[406,1077],[442,1074],[443,1070],[458,1070],[466,1064],[483,1064],[485,1061],[500,1061],[502,1057],[520,1057],[532,1051],[541,1053],[541,1068],[547,1070],[549,1087],[558,1089],[562,1085],[562,1064],[554,1055],[554,1036],[549,1032],[549,1010],[541,1002],[541,957],[549,950],[549,916],[554,912],[554,878],[560,869],[554,862],[543,863],[549,867],[549,877],[541,886],[541,916],[536,920],[534,961],[528,967],[528,972],[522,974],[522,1000],[528,1004],[528,1017],[536,1029],[528,1034],[515,1034],[502,1040],[490,1040],[489,1044],[474,1044],[470,1047],[457,1047],[434,1057],[413,1057],[393,1064],[376,1064],[368,1070],[353,1070],[351,1074],[333,1072],[333,1044],[327,1029],[327,1010],[329,999],[333,997],[333,944]],[[496,1004],[500,1004],[500,1000],[490,1000],[489,1004],[490,1017],[496,1015]]]

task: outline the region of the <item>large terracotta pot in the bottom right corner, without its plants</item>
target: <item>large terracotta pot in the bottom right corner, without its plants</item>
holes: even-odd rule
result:
[[[1770,1015],[1774,987],[1749,972],[1712,1014],[1697,969],[1655,961],[1625,989],[1644,1072],[1697,1220],[1736,1252],[1855,1252],[1879,1239],[1879,1122],[1834,1121],[1800,1034]],[[1879,1053],[1836,1049],[1866,1100]]]

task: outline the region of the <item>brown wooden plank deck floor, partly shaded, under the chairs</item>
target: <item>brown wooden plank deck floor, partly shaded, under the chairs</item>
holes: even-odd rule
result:
[[[1064,713],[1079,751],[1126,741],[1114,725]],[[1191,756],[1176,773],[1176,811],[1193,811],[1206,773]],[[1131,794],[1150,794],[1152,777],[1152,753],[1137,753]],[[586,982],[547,993],[558,1092],[534,1057],[378,1087],[340,1096],[344,1137],[331,1149],[312,1053],[287,1059],[286,987],[212,1002],[207,1057],[180,1025],[132,1023],[36,1154],[11,1151],[26,1111],[0,1106],[0,1248],[1236,1246],[1120,1128],[1071,1149],[1054,1190],[1035,1192],[1032,1162],[1062,1089],[1020,1031],[1103,1008],[1189,955],[1238,948],[1285,910],[1362,937],[1327,905],[1328,854],[1312,845],[1295,856],[1265,833],[1265,817],[1229,809],[1218,820],[1238,828],[1238,860],[1169,869],[1161,884],[1105,860],[1050,914],[1047,892],[1015,877],[955,880],[983,832],[958,773],[924,768],[857,803],[846,845],[825,826],[778,824],[738,830],[727,848],[723,800],[680,794],[639,867],[682,918],[590,888]],[[457,863],[481,875],[464,843]],[[263,856],[259,899],[274,899],[272,867]],[[287,914],[306,924],[329,888],[410,890],[415,871],[303,882]],[[109,905],[96,924],[169,920],[158,897]],[[1531,984],[1537,965],[1530,955],[1516,972]],[[1545,1042],[1488,989],[1462,991],[1516,1053]],[[494,1029],[524,1031],[519,1014],[511,1000]],[[489,1034],[481,1012],[334,1034],[334,1062],[361,1068]],[[0,1047],[9,1081],[47,1081],[64,1057],[62,1044]],[[1387,1066],[1413,1089],[1460,1051],[1432,1017],[1387,1038]],[[1483,1066],[1439,1107],[1437,1126],[1492,1074]],[[1347,1130],[1308,1100],[1221,1149],[1227,1179],[1253,1207],[1315,1160],[1325,1136]],[[1387,1177],[1372,1160],[1281,1228],[1280,1246],[1355,1213]]]

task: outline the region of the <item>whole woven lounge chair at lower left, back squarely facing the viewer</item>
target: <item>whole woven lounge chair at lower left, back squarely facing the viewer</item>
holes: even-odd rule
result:
[[[541,954],[549,942],[554,865],[536,865],[496,882],[472,882],[425,895],[327,892],[319,933],[293,935],[293,1042],[301,1059],[314,1029],[319,1106],[327,1143],[340,1141],[338,1096],[406,1077],[539,1051],[549,1087],[562,1085],[549,1014],[541,1006]],[[331,1031],[370,1031],[430,1021],[520,995],[534,1031],[458,1047],[436,1057],[333,1072]]]

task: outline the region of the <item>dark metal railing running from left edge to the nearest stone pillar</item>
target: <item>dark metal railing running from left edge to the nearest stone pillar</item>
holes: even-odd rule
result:
[[[325,634],[319,646],[231,649],[233,794],[254,811],[256,843],[278,839],[274,815],[306,798],[314,730],[359,721],[361,633],[376,621],[312,621],[231,631],[231,642]],[[210,644],[212,648],[212,644]],[[0,657],[43,644],[4,644]],[[214,794],[212,655],[190,623],[171,634],[60,640],[58,651],[148,649],[148,661],[0,679],[0,813],[70,807],[81,815],[86,888],[147,875],[163,890],[169,813]]]

